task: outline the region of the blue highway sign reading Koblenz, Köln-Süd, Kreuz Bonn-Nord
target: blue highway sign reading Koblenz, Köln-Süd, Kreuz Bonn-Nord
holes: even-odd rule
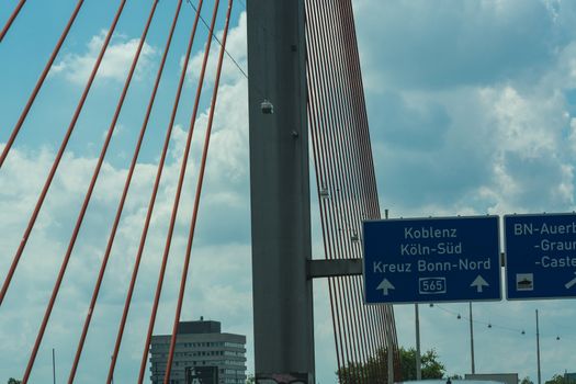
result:
[[[498,216],[364,222],[366,304],[499,301]]]

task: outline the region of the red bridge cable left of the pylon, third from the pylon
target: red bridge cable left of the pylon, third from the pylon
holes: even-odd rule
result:
[[[117,355],[118,355],[120,347],[122,345],[122,339],[123,339],[123,336],[124,336],[124,328],[126,326],[126,319],[128,317],[128,312],[129,312],[129,307],[131,307],[131,304],[132,304],[132,296],[134,294],[134,287],[136,285],[136,279],[138,276],[138,271],[139,271],[139,266],[140,266],[140,261],[142,261],[142,256],[143,256],[143,252],[144,252],[144,246],[146,244],[146,238],[147,238],[147,235],[148,235],[148,228],[150,226],[151,215],[153,215],[154,206],[155,206],[155,203],[156,203],[156,196],[158,194],[158,189],[159,189],[159,185],[160,185],[160,179],[162,177],[163,166],[165,166],[165,162],[166,162],[166,156],[168,154],[168,147],[169,147],[169,144],[170,144],[170,137],[171,137],[171,134],[172,134],[172,128],[173,128],[173,125],[174,125],[174,120],[176,120],[176,115],[177,115],[177,112],[178,112],[178,106],[180,104],[180,97],[182,94],[182,88],[184,86],[185,74],[187,74],[187,70],[188,70],[188,64],[190,61],[190,56],[191,56],[191,52],[192,52],[192,45],[193,45],[194,37],[195,37],[195,34],[196,34],[196,30],[197,30],[197,22],[199,22],[200,11],[202,10],[202,4],[203,4],[203,1],[200,0],[199,7],[197,7],[196,16],[194,19],[194,24],[192,26],[192,31],[191,31],[189,43],[188,43],[187,54],[184,56],[185,57],[184,58],[184,63],[183,63],[183,66],[182,66],[182,70],[180,72],[180,80],[179,80],[177,93],[176,93],[176,97],[174,97],[174,102],[173,102],[173,105],[172,105],[172,112],[171,112],[171,115],[170,115],[170,122],[169,122],[167,131],[166,131],[166,137],[165,137],[163,147],[162,147],[162,153],[160,155],[160,160],[158,162],[158,168],[157,168],[157,171],[156,171],[156,179],[155,179],[155,182],[154,182],[154,188],[153,188],[153,192],[151,192],[151,195],[150,195],[150,201],[148,203],[148,211],[146,213],[146,219],[144,222],[144,228],[143,228],[143,231],[142,231],[142,235],[140,235],[140,242],[139,242],[139,246],[138,246],[138,251],[136,253],[134,269],[132,271],[131,283],[129,283],[129,286],[128,286],[128,291],[126,293],[126,300],[124,302],[124,309],[123,309],[122,318],[121,318],[121,321],[120,321],[120,325],[118,325],[118,331],[117,331],[117,335],[116,335],[116,341],[114,342],[114,352],[112,353],[112,359],[110,361],[110,368],[109,368],[108,379],[106,379],[106,383],[108,384],[112,383],[112,380],[113,380],[113,376],[114,376],[114,369],[116,366]]]

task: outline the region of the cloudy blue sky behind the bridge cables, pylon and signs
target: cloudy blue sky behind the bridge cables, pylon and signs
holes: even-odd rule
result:
[[[16,0],[0,7],[3,25]],[[150,1],[128,1],[112,49],[97,77],[55,184],[0,308],[0,382],[20,377],[66,250],[86,187],[123,86]],[[195,3],[195,2],[194,2]],[[33,382],[64,381],[91,295],[143,111],[162,53],[174,1],[160,1],[144,57],[121,114],[78,246],[55,307]],[[245,2],[235,2],[228,50],[246,68]],[[0,44],[0,146],[58,38],[75,1],[29,1]],[[3,280],[95,58],[114,5],[86,1],[56,64],[0,170],[0,276]],[[203,15],[210,20],[212,2]],[[134,187],[104,280],[78,382],[101,383],[108,371],[123,297],[142,231],[145,206],[193,20],[179,22]],[[576,3],[544,0],[354,1],[366,106],[381,206],[397,216],[571,212],[576,154]],[[223,25],[224,8],[218,20]],[[200,27],[190,68],[197,68],[206,29]],[[163,248],[179,160],[188,132],[197,71],[191,70],[177,116],[166,177],[144,255],[134,306],[116,370],[134,382]],[[212,78],[213,74],[208,74]],[[218,319],[251,341],[251,276],[247,80],[226,59],[193,249],[183,316]],[[206,93],[208,94],[208,93]],[[161,316],[173,316],[181,255],[207,111],[197,118]],[[321,257],[317,205],[314,248]],[[315,282],[317,379],[335,382],[336,357],[325,282]],[[576,370],[573,300],[474,305],[477,372],[537,377],[534,309],[540,309],[543,377]],[[395,306],[400,345],[414,346],[414,307]],[[436,348],[448,372],[470,371],[468,328],[456,315],[465,304],[421,306],[422,349]],[[487,324],[493,327],[488,328]],[[15,331],[14,331],[15,330]],[[521,335],[526,330],[526,335]],[[561,339],[556,340],[556,336]],[[253,360],[248,349],[249,371]]]

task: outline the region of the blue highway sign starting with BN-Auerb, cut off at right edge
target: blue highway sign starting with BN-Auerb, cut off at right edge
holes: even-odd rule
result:
[[[576,297],[576,214],[504,216],[506,297]]]

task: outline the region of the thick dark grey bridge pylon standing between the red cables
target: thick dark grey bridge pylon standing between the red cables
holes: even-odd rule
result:
[[[256,377],[314,383],[303,0],[248,0]]]

